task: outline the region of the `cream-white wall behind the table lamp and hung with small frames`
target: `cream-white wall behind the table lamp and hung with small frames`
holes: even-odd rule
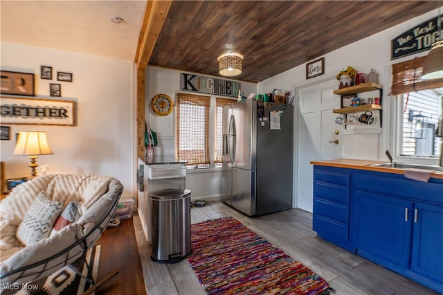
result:
[[[53,67],[53,80],[40,79],[41,65]],[[54,154],[37,161],[48,164],[49,173],[109,175],[125,186],[123,197],[136,195],[132,62],[2,42],[1,69],[34,73],[36,98],[76,102],[75,126],[10,125],[11,140],[1,141],[7,179],[30,172],[29,160],[12,154],[15,134],[41,130]],[[73,82],[57,81],[57,71],[73,73]],[[62,84],[61,98],[49,96],[49,83]]]

